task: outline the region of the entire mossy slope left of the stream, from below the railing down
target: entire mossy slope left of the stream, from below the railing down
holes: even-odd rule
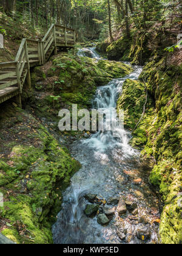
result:
[[[98,85],[132,71],[119,62],[95,62],[73,52],[32,70],[24,110],[12,101],[0,113],[0,232],[16,243],[53,243],[51,226],[62,191],[79,169],[65,144],[87,133],[58,131],[58,112],[77,103],[89,108]],[[59,137],[64,138],[59,141]]]

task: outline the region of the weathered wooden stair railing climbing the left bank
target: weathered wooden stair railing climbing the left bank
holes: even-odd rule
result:
[[[58,47],[74,47],[75,30],[52,24],[41,41],[24,38],[14,62],[0,63],[0,104],[22,93],[25,79],[31,87],[30,67],[44,65]],[[21,99],[20,99],[21,105]]]

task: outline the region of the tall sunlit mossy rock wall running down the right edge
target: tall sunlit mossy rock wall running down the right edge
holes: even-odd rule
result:
[[[156,165],[150,182],[160,187],[165,203],[161,216],[162,243],[181,243],[181,214],[178,195],[182,185],[182,76],[180,67],[168,66],[165,60],[150,62],[143,74],[148,90],[155,98],[156,110],[150,121],[147,144],[142,155],[154,157]],[[178,199],[177,199],[178,198]]]

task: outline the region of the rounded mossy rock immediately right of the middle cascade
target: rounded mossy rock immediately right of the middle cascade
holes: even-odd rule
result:
[[[143,113],[146,102],[145,85],[137,80],[127,79],[123,84],[123,92],[117,102],[117,110],[124,110],[124,126],[134,130]],[[147,142],[147,124],[153,112],[153,101],[147,97],[146,112],[140,124],[133,132],[132,146],[142,147]]]

